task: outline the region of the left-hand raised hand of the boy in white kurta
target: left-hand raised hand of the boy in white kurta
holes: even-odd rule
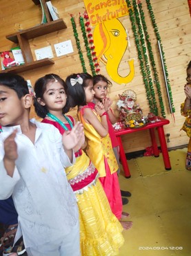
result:
[[[17,134],[17,130],[14,130],[8,138],[4,141],[4,150],[5,156],[4,159],[6,161],[16,161],[18,158],[17,154],[17,143],[15,142],[15,137]]]

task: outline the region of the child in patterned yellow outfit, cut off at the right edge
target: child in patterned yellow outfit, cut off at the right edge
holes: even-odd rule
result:
[[[185,116],[185,122],[183,124],[183,131],[186,132],[187,136],[190,138],[188,143],[188,152],[185,161],[185,168],[191,171],[191,61],[189,62],[186,68],[186,81],[187,84],[184,86],[184,93],[185,93],[185,101],[181,104],[181,115]]]

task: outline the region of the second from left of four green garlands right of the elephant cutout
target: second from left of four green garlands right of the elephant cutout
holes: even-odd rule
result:
[[[158,113],[158,108],[157,108],[157,101],[156,101],[156,98],[155,98],[155,92],[154,92],[152,77],[150,75],[151,72],[150,72],[150,64],[148,62],[147,48],[145,46],[143,28],[142,28],[142,25],[141,25],[141,20],[139,18],[139,12],[137,10],[136,0],[132,0],[132,5],[133,5],[133,9],[134,9],[134,16],[135,16],[135,19],[137,21],[137,26],[138,26],[138,31],[139,31],[139,40],[140,40],[141,46],[142,46],[142,55],[143,55],[143,60],[144,60],[144,65],[145,65],[146,77],[148,79],[150,95],[152,97],[153,113],[155,114],[155,116],[158,116],[159,113]]]

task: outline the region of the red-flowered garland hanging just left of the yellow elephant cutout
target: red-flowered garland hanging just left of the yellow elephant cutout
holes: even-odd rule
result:
[[[92,52],[92,58],[93,58],[93,61],[94,61],[94,67],[96,68],[95,71],[96,71],[96,73],[99,73],[100,68],[99,68],[99,63],[97,62],[96,52],[94,51],[95,46],[94,46],[94,40],[93,40],[93,35],[92,35],[92,28],[90,28],[90,21],[89,21],[89,17],[88,17],[88,12],[87,11],[84,12],[83,17],[84,17],[84,19],[86,19],[86,23],[85,23],[86,32],[88,33],[89,44],[91,45],[90,46],[90,50]]]

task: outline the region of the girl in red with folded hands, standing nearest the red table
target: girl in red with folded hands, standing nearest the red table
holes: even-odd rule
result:
[[[107,116],[107,121],[108,121],[108,132],[110,134],[110,139],[112,141],[112,149],[114,151],[114,155],[117,159],[117,163],[118,166],[120,166],[119,164],[119,143],[117,140],[117,136],[115,136],[114,134],[114,128],[112,127],[112,125],[114,125],[115,122],[117,122],[117,118],[114,116],[112,109],[111,109],[111,105],[112,105],[112,101],[110,100],[110,98],[107,97],[108,94],[108,88],[110,88],[110,86],[112,86],[112,83],[103,75],[94,75],[93,77],[93,84],[94,84],[94,100],[92,102],[90,102],[89,104],[92,105],[92,107],[94,107],[94,105],[97,102],[102,102],[104,109],[105,109],[105,113]],[[120,168],[117,170],[117,173],[119,174],[120,172]],[[121,196],[131,196],[131,193],[128,191],[123,191],[121,190]],[[123,205],[128,203],[128,199],[122,198],[122,202]],[[124,212],[125,214],[125,212]]]

